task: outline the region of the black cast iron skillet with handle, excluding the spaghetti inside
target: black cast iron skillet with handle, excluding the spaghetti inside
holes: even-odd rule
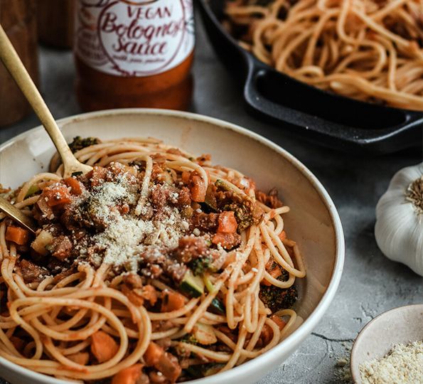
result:
[[[200,0],[220,60],[243,83],[248,109],[304,139],[343,151],[389,153],[422,146],[423,112],[349,99],[279,73],[240,48],[223,28],[224,0]]]

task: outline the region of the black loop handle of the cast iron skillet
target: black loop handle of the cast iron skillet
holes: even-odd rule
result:
[[[287,124],[296,134],[344,149],[397,151],[422,145],[423,114],[323,92],[247,56],[244,97],[248,107]]]

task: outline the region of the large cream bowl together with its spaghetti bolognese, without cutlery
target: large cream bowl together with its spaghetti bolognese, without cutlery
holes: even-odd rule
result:
[[[186,112],[61,119],[0,146],[1,375],[11,383],[253,383],[289,358],[343,268],[336,207],[287,151]],[[16,169],[19,171],[16,172]]]

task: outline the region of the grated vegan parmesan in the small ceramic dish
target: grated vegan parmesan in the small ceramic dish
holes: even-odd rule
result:
[[[363,384],[422,384],[423,341],[397,344],[387,355],[360,364]]]

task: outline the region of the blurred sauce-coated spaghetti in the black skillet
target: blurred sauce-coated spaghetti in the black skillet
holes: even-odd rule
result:
[[[226,14],[241,46],[280,72],[346,97],[423,110],[421,0],[234,0]]]

